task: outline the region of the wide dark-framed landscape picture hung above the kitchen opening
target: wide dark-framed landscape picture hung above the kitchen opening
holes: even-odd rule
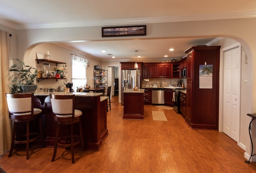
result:
[[[146,25],[102,27],[102,37],[146,36]]]

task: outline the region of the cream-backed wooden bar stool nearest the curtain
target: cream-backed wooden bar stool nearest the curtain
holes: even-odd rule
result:
[[[9,109],[9,117],[14,121],[12,130],[12,143],[8,157],[12,156],[14,144],[26,143],[26,159],[29,158],[29,143],[36,141],[41,136],[44,147],[44,136],[42,130],[41,113],[42,110],[34,108],[34,93],[7,94],[6,100]],[[40,133],[29,131],[29,122],[38,119]],[[17,123],[26,123],[26,134],[16,135]],[[22,139],[26,137],[26,140]]]

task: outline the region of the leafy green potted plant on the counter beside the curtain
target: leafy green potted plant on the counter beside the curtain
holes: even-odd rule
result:
[[[12,60],[15,60],[17,63],[13,64],[9,69],[9,72],[14,72],[11,76],[10,93],[36,91],[37,85],[34,85],[34,80],[38,75],[37,69],[25,65],[18,58]]]

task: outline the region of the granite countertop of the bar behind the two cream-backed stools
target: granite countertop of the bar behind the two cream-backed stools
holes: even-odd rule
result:
[[[72,93],[66,93],[66,92],[34,92],[34,95],[41,95],[41,96],[47,96],[50,94],[55,94],[55,95],[75,95],[79,97],[96,97],[103,95],[103,93],[85,93],[85,92],[72,92]]]

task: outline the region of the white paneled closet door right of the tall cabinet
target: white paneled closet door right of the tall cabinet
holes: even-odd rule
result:
[[[240,47],[224,52],[223,132],[239,140],[240,131]]]

